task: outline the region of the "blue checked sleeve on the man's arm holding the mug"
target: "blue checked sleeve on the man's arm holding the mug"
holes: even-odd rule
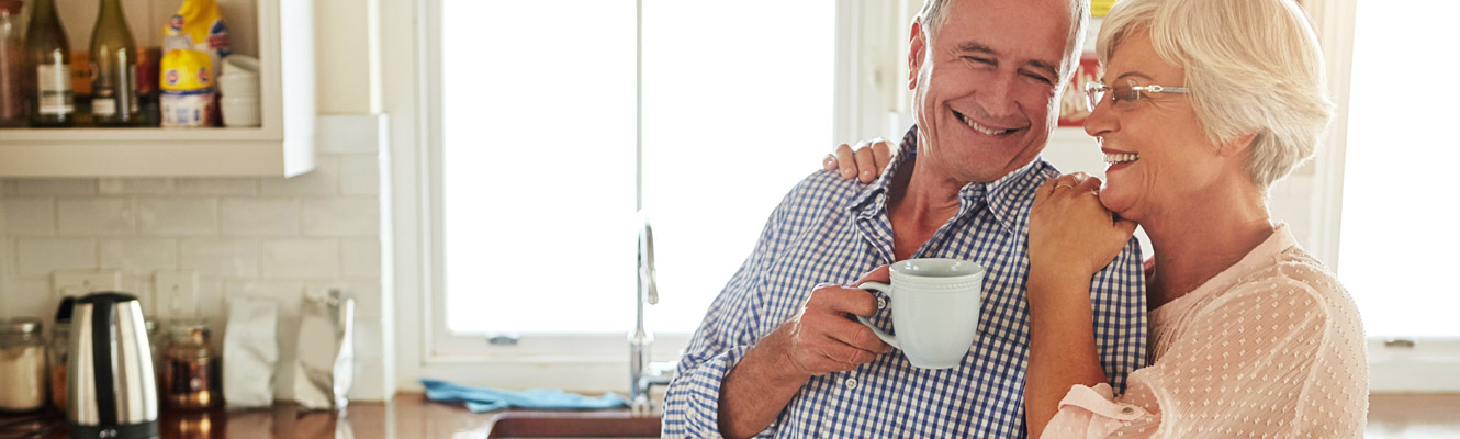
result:
[[[721,438],[720,384],[774,322],[762,322],[765,311],[759,298],[764,267],[775,258],[787,197],[761,232],[755,252],[745,260],[720,296],[710,305],[679,360],[675,379],[664,394],[663,438]],[[756,438],[769,438],[772,423]]]

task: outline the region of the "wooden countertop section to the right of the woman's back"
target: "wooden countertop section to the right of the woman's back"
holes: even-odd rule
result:
[[[1365,438],[1460,438],[1460,394],[1369,395]]]

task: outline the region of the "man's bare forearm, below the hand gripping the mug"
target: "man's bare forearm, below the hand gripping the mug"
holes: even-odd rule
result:
[[[765,430],[810,381],[800,370],[787,370],[788,338],[788,327],[777,328],[726,375],[720,384],[720,435],[750,438]]]

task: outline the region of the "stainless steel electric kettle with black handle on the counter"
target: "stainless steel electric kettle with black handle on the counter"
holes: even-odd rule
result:
[[[158,438],[158,385],[137,298],[92,293],[72,311],[66,419],[72,439]]]

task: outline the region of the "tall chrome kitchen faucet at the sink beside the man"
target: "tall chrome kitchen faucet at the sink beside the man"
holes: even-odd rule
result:
[[[648,413],[653,408],[650,388],[669,385],[675,378],[675,363],[650,362],[654,334],[644,328],[644,305],[658,303],[658,287],[654,280],[654,229],[648,223],[648,214],[641,211],[639,219],[638,293],[634,299],[634,333],[629,333],[629,401],[635,413]]]

